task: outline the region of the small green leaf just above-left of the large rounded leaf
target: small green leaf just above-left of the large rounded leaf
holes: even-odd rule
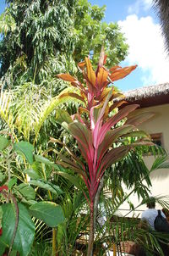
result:
[[[20,192],[27,200],[35,199],[35,190],[29,184],[21,183],[15,189]]]

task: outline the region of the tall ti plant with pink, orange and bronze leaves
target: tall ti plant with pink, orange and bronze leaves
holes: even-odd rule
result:
[[[138,114],[134,111],[139,107],[137,104],[125,104],[122,107],[123,103],[126,103],[122,98],[123,95],[113,86],[109,86],[112,82],[128,75],[136,65],[125,68],[114,66],[107,70],[105,64],[106,57],[102,49],[95,71],[90,58],[85,58],[84,62],[79,63],[84,83],[69,74],[57,75],[58,78],[69,81],[71,84],[60,94],[60,97],[74,97],[82,103],[79,112],[74,116],[68,115],[64,110],[57,112],[57,122],[74,136],[82,158],[69,151],[70,158],[60,154],[61,161],[58,163],[79,173],[89,192],[89,195],[85,194],[90,206],[88,256],[92,255],[93,251],[94,203],[101,177],[109,166],[123,159],[134,147],[152,144],[150,136],[136,127],[142,121],[149,119],[152,114]],[[117,111],[119,107],[121,108]],[[138,139],[134,143],[123,143],[128,136]]]

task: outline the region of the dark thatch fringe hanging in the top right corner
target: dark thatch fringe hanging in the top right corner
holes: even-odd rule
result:
[[[166,41],[166,50],[169,53],[169,1],[154,0],[154,6],[161,20],[161,28]]]

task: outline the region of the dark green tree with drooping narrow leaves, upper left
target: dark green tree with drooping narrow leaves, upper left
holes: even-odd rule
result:
[[[0,44],[0,74],[8,73],[4,77],[8,86],[16,78],[30,81],[35,75],[40,83],[61,70],[74,70],[74,0],[8,3],[1,19],[13,23],[7,23]]]

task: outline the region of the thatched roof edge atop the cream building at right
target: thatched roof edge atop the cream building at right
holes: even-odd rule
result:
[[[144,86],[123,92],[128,103],[139,103],[141,108],[169,103],[169,83]]]

